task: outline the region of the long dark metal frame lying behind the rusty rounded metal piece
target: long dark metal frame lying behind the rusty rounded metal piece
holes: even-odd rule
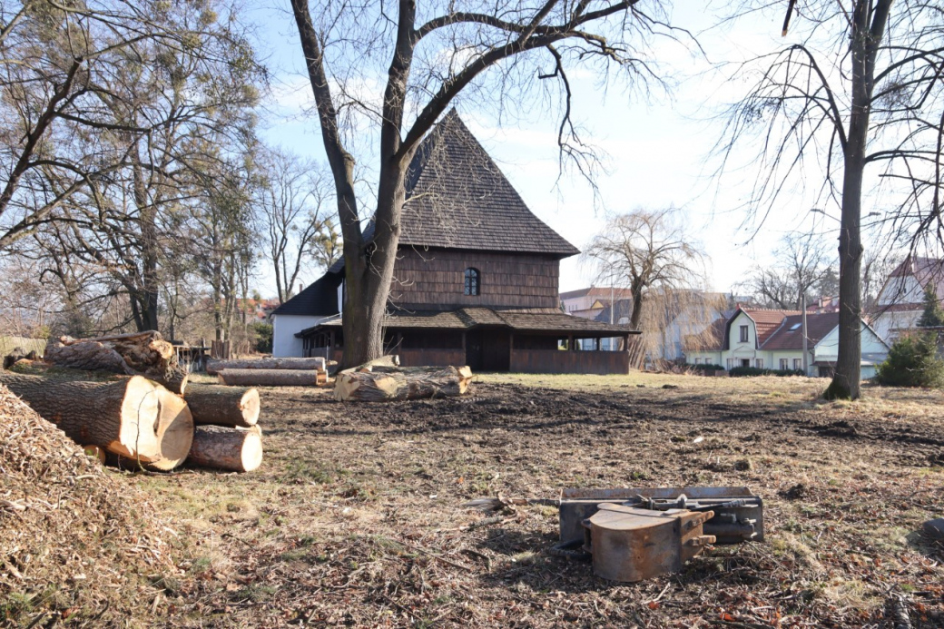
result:
[[[715,518],[704,533],[718,544],[764,540],[764,504],[747,487],[639,487],[620,489],[565,489],[560,501],[561,543],[583,537],[582,522],[598,511],[601,502],[623,503],[652,510],[710,509]]]

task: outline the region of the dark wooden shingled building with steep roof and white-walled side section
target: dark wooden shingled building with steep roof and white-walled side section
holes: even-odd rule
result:
[[[403,365],[629,370],[627,352],[600,351],[598,339],[638,332],[561,311],[560,261],[578,249],[531,213],[454,110],[420,145],[406,187],[384,322]],[[277,356],[340,357],[344,268],[334,263],[273,313]],[[583,339],[594,350],[579,351]]]

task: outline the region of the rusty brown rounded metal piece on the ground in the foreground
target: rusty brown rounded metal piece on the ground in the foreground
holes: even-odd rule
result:
[[[682,569],[715,537],[702,532],[712,511],[642,509],[602,502],[583,524],[583,550],[593,570],[611,581],[632,583]]]

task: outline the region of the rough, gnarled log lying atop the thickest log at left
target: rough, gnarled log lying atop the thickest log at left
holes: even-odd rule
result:
[[[187,372],[177,365],[174,346],[157,331],[83,339],[62,336],[46,345],[44,358],[73,369],[145,376],[177,395],[183,395],[187,386]]]

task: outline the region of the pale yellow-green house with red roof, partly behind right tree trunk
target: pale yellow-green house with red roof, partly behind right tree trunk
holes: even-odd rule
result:
[[[800,312],[738,307],[732,316],[712,325],[715,342],[686,351],[693,365],[753,366],[767,369],[803,367],[803,316]],[[875,375],[888,346],[862,323],[862,377]],[[831,376],[839,345],[839,314],[806,315],[807,363],[810,375]]]

